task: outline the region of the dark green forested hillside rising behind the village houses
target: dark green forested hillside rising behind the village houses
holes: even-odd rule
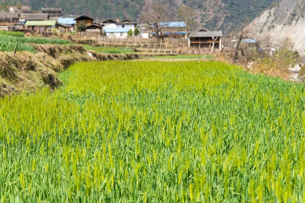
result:
[[[143,6],[151,0],[10,0],[39,11],[45,8],[63,8],[66,15],[86,13],[98,20],[129,17],[138,20]],[[276,0],[171,0],[164,5],[176,20],[175,13],[180,6],[190,6],[196,11],[195,20],[208,29],[223,29],[225,33],[237,29],[243,22],[251,22]],[[1,2],[1,1],[0,1]],[[3,1],[2,1],[3,2]]]

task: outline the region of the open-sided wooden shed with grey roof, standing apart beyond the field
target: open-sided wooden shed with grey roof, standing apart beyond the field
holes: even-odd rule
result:
[[[215,40],[215,47],[222,49],[222,31],[208,31],[201,29],[199,31],[191,32],[189,36],[189,47],[194,48],[208,48],[212,47],[213,39]]]

